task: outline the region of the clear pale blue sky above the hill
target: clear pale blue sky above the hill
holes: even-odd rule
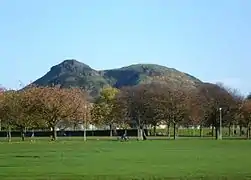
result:
[[[65,59],[94,69],[176,68],[251,92],[250,0],[0,0],[0,84]]]

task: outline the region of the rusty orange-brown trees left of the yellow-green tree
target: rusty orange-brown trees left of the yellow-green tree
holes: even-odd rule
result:
[[[9,131],[19,129],[24,140],[25,130],[51,129],[56,140],[60,121],[73,124],[86,119],[88,105],[85,92],[77,88],[29,87],[21,91],[5,91],[0,95],[0,119]]]

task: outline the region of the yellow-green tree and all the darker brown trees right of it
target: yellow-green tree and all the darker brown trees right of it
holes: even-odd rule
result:
[[[117,124],[134,125],[139,138],[148,127],[153,127],[156,134],[158,125],[166,125],[169,137],[172,127],[174,138],[180,126],[199,126],[201,136],[203,127],[212,127],[212,134],[218,139],[221,126],[229,127],[231,133],[237,125],[241,132],[245,127],[250,137],[251,100],[221,84],[204,83],[196,89],[181,89],[156,82],[106,91],[112,93],[109,98],[101,93],[92,108],[94,119],[109,119],[106,123],[111,128]]]

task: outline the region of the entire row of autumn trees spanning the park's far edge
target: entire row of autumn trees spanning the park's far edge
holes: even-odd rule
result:
[[[221,127],[229,132],[237,126],[245,128],[250,138],[251,100],[237,90],[223,85],[203,83],[194,89],[170,87],[168,83],[153,82],[133,87],[104,88],[93,103],[85,91],[78,88],[28,87],[20,91],[0,93],[1,124],[8,129],[51,129],[56,140],[59,123],[77,126],[92,124],[109,126],[112,135],[116,128],[138,129],[138,139],[143,139],[144,129],[166,125],[167,135],[173,128],[173,137],[180,126],[212,127],[216,139]]]

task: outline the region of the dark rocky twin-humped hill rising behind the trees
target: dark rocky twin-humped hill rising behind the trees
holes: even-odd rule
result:
[[[118,69],[97,71],[84,63],[70,59],[53,66],[48,73],[33,84],[81,87],[94,97],[106,86],[121,88],[152,81],[163,81],[172,86],[184,88],[195,88],[202,83],[187,73],[156,64],[135,64]]]

